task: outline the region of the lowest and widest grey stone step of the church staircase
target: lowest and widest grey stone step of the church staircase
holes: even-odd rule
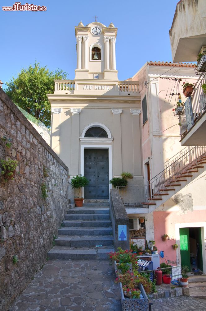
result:
[[[49,259],[83,260],[83,259],[109,259],[108,253],[114,248],[69,248],[55,246],[48,252]]]

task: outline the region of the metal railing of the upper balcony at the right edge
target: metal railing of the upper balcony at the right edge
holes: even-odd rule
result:
[[[206,83],[206,73],[197,81],[192,95],[187,98],[182,114],[179,116],[181,138],[206,111],[206,93],[201,87],[204,83]]]

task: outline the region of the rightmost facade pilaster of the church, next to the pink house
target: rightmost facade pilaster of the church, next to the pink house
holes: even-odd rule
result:
[[[141,176],[141,141],[140,141],[140,114],[141,109],[130,109],[132,114],[132,146],[134,175]]]

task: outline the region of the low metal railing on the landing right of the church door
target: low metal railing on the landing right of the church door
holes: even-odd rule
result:
[[[117,189],[124,206],[142,206],[142,202],[147,201],[147,186],[117,186]]]

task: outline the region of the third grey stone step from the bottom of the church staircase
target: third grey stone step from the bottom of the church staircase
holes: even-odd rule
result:
[[[90,227],[90,228],[82,228],[82,227],[63,227],[58,230],[58,234],[69,234],[69,235],[110,235],[112,234],[112,228],[104,228],[104,227]]]

